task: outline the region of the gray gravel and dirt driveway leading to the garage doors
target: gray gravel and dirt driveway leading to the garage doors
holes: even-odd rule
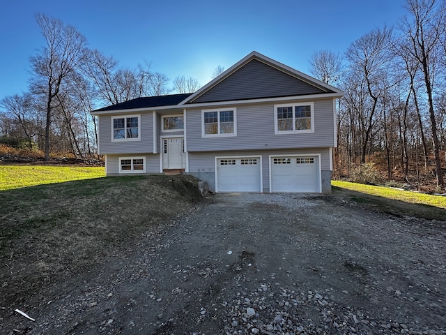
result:
[[[209,195],[1,304],[0,333],[446,334],[445,228],[337,194]]]

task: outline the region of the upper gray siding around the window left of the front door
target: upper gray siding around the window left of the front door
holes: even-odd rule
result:
[[[112,117],[110,115],[100,115],[98,117],[99,150],[100,154],[141,154],[153,152],[153,113],[135,113],[140,115],[139,141],[112,142]],[[133,115],[133,114],[132,114]],[[114,115],[119,117],[120,115]]]

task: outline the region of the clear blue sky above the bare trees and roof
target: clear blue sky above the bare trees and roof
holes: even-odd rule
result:
[[[406,15],[405,0],[1,0],[0,99],[28,90],[29,57],[44,45],[34,15],[72,24],[121,66],[211,79],[256,50],[309,73],[318,50],[343,54],[371,29]]]

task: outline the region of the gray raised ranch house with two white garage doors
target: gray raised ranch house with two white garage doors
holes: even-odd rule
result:
[[[343,92],[252,52],[194,94],[95,110],[107,175],[183,172],[214,192],[331,190]]]

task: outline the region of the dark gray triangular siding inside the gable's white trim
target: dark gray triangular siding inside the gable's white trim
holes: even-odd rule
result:
[[[326,93],[292,75],[253,59],[190,103]]]

